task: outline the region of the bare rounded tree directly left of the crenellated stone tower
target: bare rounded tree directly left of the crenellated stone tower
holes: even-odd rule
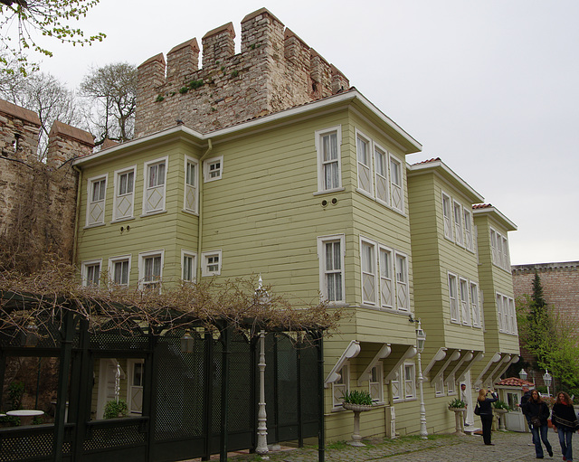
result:
[[[116,62],[92,69],[81,83],[81,94],[87,99],[85,117],[95,145],[105,139],[128,141],[133,137],[137,108],[137,67]]]

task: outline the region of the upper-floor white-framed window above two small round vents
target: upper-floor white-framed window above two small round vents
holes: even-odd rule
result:
[[[316,151],[318,152],[318,192],[333,191],[341,188],[340,145],[342,127],[332,127],[316,132]]]

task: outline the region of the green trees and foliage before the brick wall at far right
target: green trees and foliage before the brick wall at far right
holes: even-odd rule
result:
[[[547,306],[538,273],[531,296],[517,300],[517,321],[521,344],[536,357],[536,366],[579,396],[579,322]]]

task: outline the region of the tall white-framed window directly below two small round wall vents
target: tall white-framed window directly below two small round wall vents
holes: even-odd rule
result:
[[[318,238],[319,290],[330,302],[344,301],[344,235]]]

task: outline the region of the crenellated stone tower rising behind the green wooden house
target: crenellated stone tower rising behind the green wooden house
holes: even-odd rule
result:
[[[349,87],[346,77],[261,8],[242,19],[241,52],[232,23],[138,67],[136,137],[183,120],[210,132],[305,104]],[[199,67],[199,52],[203,66]]]

